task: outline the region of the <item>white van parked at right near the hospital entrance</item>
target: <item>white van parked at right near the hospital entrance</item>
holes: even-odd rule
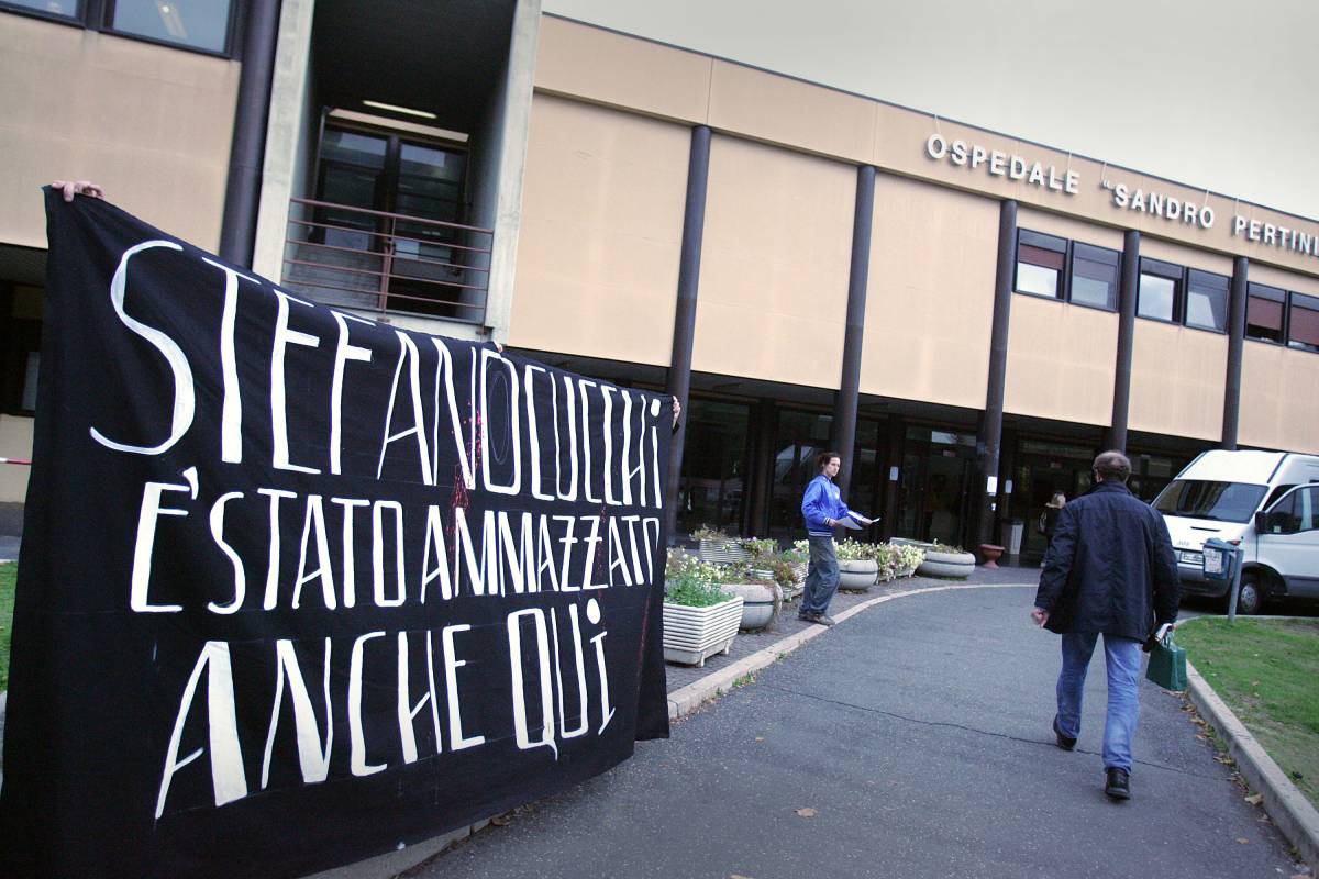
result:
[[[1227,600],[1231,582],[1206,580],[1210,538],[1245,551],[1237,613],[1270,598],[1319,598],[1319,456],[1202,452],[1154,498],[1163,514],[1183,594]]]

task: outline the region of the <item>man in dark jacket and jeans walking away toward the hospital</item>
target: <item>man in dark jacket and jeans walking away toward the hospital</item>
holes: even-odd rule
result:
[[[1130,799],[1132,737],[1140,718],[1141,643],[1177,622],[1181,585],[1163,517],[1126,488],[1132,464],[1121,452],[1095,459],[1095,488],[1064,506],[1039,575],[1030,618],[1063,637],[1058,673],[1058,747],[1080,734],[1086,668],[1104,635],[1108,720],[1104,793]]]

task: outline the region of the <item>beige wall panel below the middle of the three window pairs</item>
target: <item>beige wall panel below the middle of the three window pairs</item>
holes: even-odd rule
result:
[[[1137,318],[1126,426],[1219,441],[1227,369],[1227,336]]]

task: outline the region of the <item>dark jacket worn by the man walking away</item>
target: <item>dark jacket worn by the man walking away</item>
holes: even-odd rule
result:
[[[1145,640],[1177,621],[1182,586],[1163,517],[1121,482],[1100,482],[1058,515],[1035,606],[1050,631]]]

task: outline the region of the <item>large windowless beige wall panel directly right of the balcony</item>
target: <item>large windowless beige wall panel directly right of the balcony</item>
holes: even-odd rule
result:
[[[666,365],[690,129],[538,94],[509,344]]]

